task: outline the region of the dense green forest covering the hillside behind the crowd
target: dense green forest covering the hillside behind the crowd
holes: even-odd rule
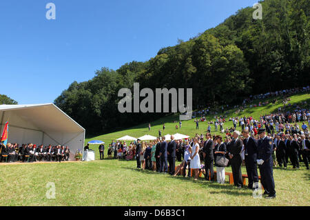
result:
[[[102,68],[89,81],[74,81],[54,101],[88,133],[110,132],[161,117],[118,112],[120,88],[193,88],[193,106],[240,102],[260,94],[309,84],[309,0],[265,0],[238,10],[202,34],[161,48],[146,62]]]

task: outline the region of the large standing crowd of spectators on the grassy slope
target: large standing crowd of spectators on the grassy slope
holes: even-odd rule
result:
[[[205,179],[225,183],[225,167],[231,166],[234,184],[243,187],[241,166],[245,166],[249,179],[248,188],[258,188],[258,170],[267,198],[275,198],[273,167],[287,169],[289,161],[293,169],[304,163],[309,170],[309,110],[296,108],[291,112],[266,114],[254,117],[229,118],[233,126],[224,128],[227,119],[215,117],[208,122],[207,134],[196,134],[192,139],[166,141],[158,137],[154,141],[112,141],[108,157],[136,159],[137,168],[154,170],[163,174],[192,174],[198,179],[203,172]],[[302,126],[298,126],[298,122]],[[211,125],[214,125],[214,130]],[[196,121],[196,128],[198,122]],[[242,130],[239,132],[238,130]],[[213,131],[225,135],[212,135]],[[176,161],[180,164],[175,168]],[[214,166],[216,178],[214,178]]]

